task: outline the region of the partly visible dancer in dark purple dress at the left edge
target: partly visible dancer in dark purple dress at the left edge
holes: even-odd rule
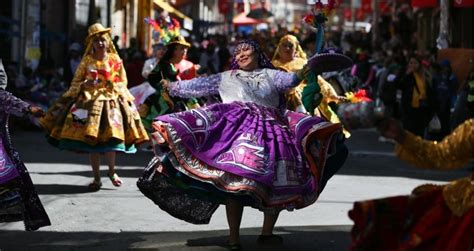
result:
[[[28,114],[41,117],[44,112],[5,91],[7,84],[0,59],[0,223],[23,221],[25,230],[33,231],[49,226],[51,222],[30,174],[11,142],[8,118]]]

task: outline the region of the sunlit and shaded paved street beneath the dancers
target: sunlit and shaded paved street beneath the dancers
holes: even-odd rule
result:
[[[209,225],[176,220],[142,196],[136,180],[151,159],[150,152],[120,155],[120,188],[112,186],[103,169],[103,189],[87,191],[91,170],[87,155],[49,146],[39,131],[16,130],[19,150],[48,212],[52,226],[37,232],[23,224],[0,224],[0,250],[225,250],[227,222],[220,207]],[[465,176],[468,168],[453,172],[421,170],[402,163],[393,145],[377,141],[374,130],[353,132],[347,141],[350,157],[310,207],[283,212],[277,234],[281,250],[347,250],[352,203],[375,197],[407,194],[423,183],[443,183]],[[255,240],[263,216],[246,208],[242,221],[244,250],[257,250]],[[272,249],[275,250],[275,249]]]

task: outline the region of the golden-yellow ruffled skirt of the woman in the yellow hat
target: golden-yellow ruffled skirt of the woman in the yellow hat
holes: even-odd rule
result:
[[[106,99],[61,97],[40,120],[49,142],[79,152],[135,152],[148,140],[138,110],[122,96]]]

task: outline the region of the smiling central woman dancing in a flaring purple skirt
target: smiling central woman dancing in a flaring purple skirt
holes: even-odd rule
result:
[[[273,235],[281,210],[313,204],[347,157],[342,126],[285,109],[283,93],[297,73],[275,70],[253,41],[240,42],[232,70],[186,81],[163,81],[171,96],[220,95],[222,103],[159,116],[156,156],[138,181],[141,192],[172,216],[207,224],[226,205],[229,248],[239,249],[244,206],[264,212],[259,243]]]

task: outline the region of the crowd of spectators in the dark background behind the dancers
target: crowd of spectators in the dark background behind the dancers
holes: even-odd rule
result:
[[[301,52],[308,56],[314,54],[314,33],[289,34],[299,40]],[[235,42],[244,38],[261,41],[265,54],[272,58],[277,53],[279,39],[285,35],[283,32],[259,32],[254,35],[237,35],[230,41],[221,35],[211,35],[201,40],[183,38],[189,46],[184,48],[186,50],[181,57],[195,66],[184,77],[206,76],[228,70]],[[362,31],[352,34],[333,32],[327,37],[330,39],[327,44],[346,47],[344,53],[354,61],[350,69],[322,74],[323,79],[331,83],[339,96],[348,91],[365,89],[371,98],[378,100],[378,104],[383,103],[394,117],[401,119],[405,128],[426,139],[441,140],[465,119],[462,111],[456,109],[456,104],[463,102],[458,97],[469,88],[467,83],[472,81],[472,73],[468,79],[457,79],[448,60],[437,61],[435,52],[416,51],[409,45],[402,47],[392,41],[398,41],[397,39],[383,43],[383,48],[373,48],[368,34]],[[159,62],[158,58],[164,56],[167,47],[154,44],[148,58],[144,51],[136,47],[117,49],[124,62],[129,89],[146,81],[152,85],[153,82],[157,83],[157,80],[149,81],[148,75]],[[79,43],[72,43],[64,67],[57,67],[52,60],[45,59],[36,70],[24,68],[21,75],[18,74],[16,65],[4,62],[10,82],[8,91],[47,109],[69,88],[83,51]],[[168,52],[166,58],[170,54]],[[183,59],[180,61],[182,64],[185,61]],[[184,71],[181,70],[181,75]],[[153,74],[151,78],[154,78]],[[152,114],[160,114],[155,109],[156,107]],[[151,118],[150,115],[148,121]],[[438,124],[439,126],[433,127]]]

